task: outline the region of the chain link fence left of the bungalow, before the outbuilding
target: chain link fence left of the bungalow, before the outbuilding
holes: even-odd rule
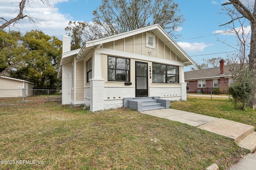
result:
[[[52,89],[0,89],[0,106],[61,102],[61,91]]]

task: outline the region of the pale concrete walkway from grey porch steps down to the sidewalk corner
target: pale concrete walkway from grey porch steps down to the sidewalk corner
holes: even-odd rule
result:
[[[186,123],[228,137],[240,147],[249,149],[251,152],[256,149],[256,132],[251,125],[176,109],[149,110],[141,113]],[[238,164],[231,168],[231,170],[249,169],[256,170],[256,153],[244,156]]]

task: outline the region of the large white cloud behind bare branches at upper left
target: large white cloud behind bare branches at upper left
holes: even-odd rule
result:
[[[66,1],[68,0],[51,0],[49,2],[54,7],[54,4]],[[19,10],[19,3],[17,0],[0,0],[0,4],[0,18],[3,17],[6,20],[10,20],[17,16]],[[37,20],[38,23],[36,26],[33,25],[28,18],[24,18],[20,20],[19,24],[16,24],[15,27],[10,27],[10,30],[19,30],[22,33],[25,33],[26,31],[31,31],[32,29],[39,29],[45,34],[56,36],[59,39],[62,39],[62,35],[66,34],[64,29],[66,26],[68,26],[68,21],[70,21],[72,18],[58,12],[58,8],[47,8],[46,4],[43,4],[40,0],[30,0],[29,4],[26,4],[25,8],[25,15],[40,19]],[[6,31],[8,31],[8,28]]]

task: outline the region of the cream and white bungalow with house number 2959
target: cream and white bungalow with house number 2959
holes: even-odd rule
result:
[[[186,100],[183,68],[190,64],[195,63],[158,24],[87,41],[74,51],[64,35],[62,104],[97,111],[126,107],[127,98]]]

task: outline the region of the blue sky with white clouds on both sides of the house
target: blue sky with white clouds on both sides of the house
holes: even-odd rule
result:
[[[18,6],[17,0],[0,0],[0,17],[11,17]],[[18,29],[25,33],[31,29],[40,29],[50,36],[56,36],[62,40],[65,35],[65,27],[68,21],[91,21],[92,12],[101,4],[101,0],[50,0],[55,8],[50,10],[45,8],[43,4],[33,4],[27,11],[31,16],[48,20],[46,23],[37,25],[36,27],[29,23],[28,20],[22,21],[20,25],[16,25]],[[203,59],[213,57],[226,58],[227,52],[235,51],[222,42],[235,46],[237,41],[234,35],[216,34],[226,30],[225,27],[219,25],[229,21],[228,16],[220,14],[221,4],[225,0],[174,0],[179,4],[180,14],[184,15],[185,21],[180,27],[179,34],[182,35],[176,39],[177,43],[191,56],[196,63],[202,63]],[[11,30],[15,29],[13,27]],[[218,38],[218,39],[217,39]],[[216,54],[217,53],[217,54]],[[185,67],[185,71],[189,71],[190,67]]]

